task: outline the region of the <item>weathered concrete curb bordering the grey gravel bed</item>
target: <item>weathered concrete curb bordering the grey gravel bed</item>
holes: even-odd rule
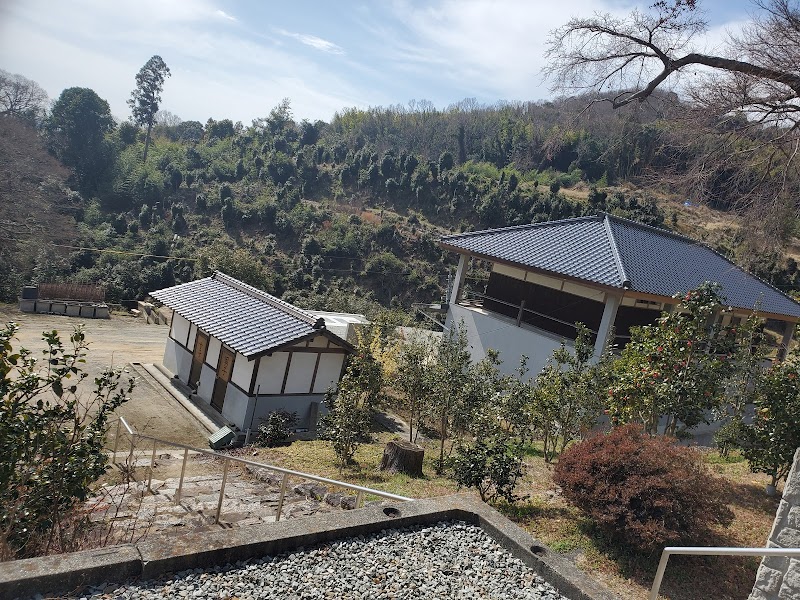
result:
[[[0,563],[0,597],[72,593],[102,582],[225,565],[343,537],[458,519],[478,525],[571,600],[618,600],[572,563],[482,502],[464,494],[369,506],[227,531],[153,536],[135,545]]]

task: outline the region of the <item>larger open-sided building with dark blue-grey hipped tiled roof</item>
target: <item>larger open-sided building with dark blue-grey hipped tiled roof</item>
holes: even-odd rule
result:
[[[783,350],[800,304],[690,238],[607,214],[445,236],[460,254],[447,325],[464,321],[473,357],[499,350],[511,371],[527,355],[536,373],[576,321],[595,334],[596,352],[612,331],[622,346],[630,328],[653,323],[674,294],[717,282],[731,306],[723,325],[758,307]],[[470,261],[490,264],[488,281],[467,277]],[[779,349],[780,351],[780,349]]]

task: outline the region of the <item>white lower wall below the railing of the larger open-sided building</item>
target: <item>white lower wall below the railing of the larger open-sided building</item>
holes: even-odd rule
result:
[[[503,361],[500,370],[508,375],[514,374],[524,354],[528,357],[528,376],[536,376],[553,350],[561,346],[558,337],[532,328],[517,327],[513,319],[451,304],[445,325],[452,327],[462,319],[472,360],[481,360],[489,349],[498,350]],[[567,346],[572,346],[571,340],[567,340]]]

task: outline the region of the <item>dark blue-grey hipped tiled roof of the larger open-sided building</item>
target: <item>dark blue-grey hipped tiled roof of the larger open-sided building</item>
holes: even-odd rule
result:
[[[704,281],[736,308],[800,317],[800,304],[690,238],[611,215],[442,238],[444,247],[555,275],[669,297]]]

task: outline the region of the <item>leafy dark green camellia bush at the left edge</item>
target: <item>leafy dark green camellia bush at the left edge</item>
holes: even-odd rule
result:
[[[107,369],[91,393],[81,392],[88,378],[81,328],[67,344],[45,332],[42,360],[13,348],[16,331],[13,323],[0,331],[0,560],[69,547],[72,510],[107,469],[108,421],[134,387],[133,378]]]

